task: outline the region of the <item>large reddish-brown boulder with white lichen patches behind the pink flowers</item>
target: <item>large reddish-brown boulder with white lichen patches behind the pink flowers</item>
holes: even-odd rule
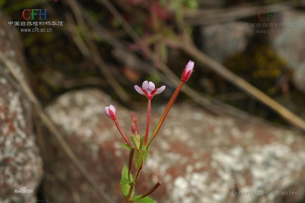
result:
[[[153,131],[162,114],[160,96],[152,100]],[[155,103],[154,103],[155,102]],[[162,101],[166,103],[167,101]],[[65,93],[46,108],[99,186],[123,202],[120,171],[127,165],[123,139],[103,108],[116,103],[97,89]],[[130,110],[117,106],[118,121],[127,135]],[[141,106],[141,105],[140,105]],[[144,133],[145,104],[137,116]],[[51,202],[101,202],[74,164],[50,137],[45,180]],[[157,181],[152,198],[162,203],[297,202],[304,200],[305,137],[297,131],[262,122],[215,116],[191,104],[174,104],[141,171],[136,191]],[[268,191],[268,195],[233,195],[233,191]],[[272,190],[278,195],[272,195]],[[301,195],[282,195],[299,191]]]

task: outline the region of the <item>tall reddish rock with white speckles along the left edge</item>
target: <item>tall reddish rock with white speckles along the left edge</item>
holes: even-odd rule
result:
[[[16,30],[0,12],[0,53],[21,78],[24,58]],[[32,108],[7,68],[0,64],[0,202],[20,203],[36,199],[43,175],[42,159],[33,129]],[[25,190],[20,191],[21,188]],[[32,190],[32,191],[26,191]]]

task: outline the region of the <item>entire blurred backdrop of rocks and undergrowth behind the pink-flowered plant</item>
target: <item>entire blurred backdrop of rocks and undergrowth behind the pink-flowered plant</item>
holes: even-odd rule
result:
[[[103,113],[104,107],[117,106],[118,121],[127,135],[132,110],[144,134],[146,100],[133,86],[143,80],[166,85],[152,100],[152,132],[174,92],[170,76],[160,74],[158,64],[152,63],[98,2],[0,2],[0,54],[5,58],[0,61],[0,203],[103,202],[43,126],[5,62],[30,85],[99,187],[113,202],[123,202],[120,176],[128,154],[118,145],[123,139]],[[289,34],[269,35],[245,26],[259,22],[257,12],[269,5],[288,8],[283,11],[283,23],[299,26],[287,28]],[[114,2],[114,6],[174,74],[180,75],[192,58],[171,44],[170,37],[189,35],[201,51],[305,118],[303,1],[126,0]],[[21,21],[23,9],[38,7],[65,26],[50,33],[21,33],[20,27],[8,25]],[[92,53],[98,53],[100,63]],[[196,72],[187,84],[200,95],[208,95],[206,98],[238,108],[237,116],[228,114],[223,105],[215,113],[180,93],[151,145],[137,194],[161,181],[151,197],[164,203],[305,202],[304,132],[223,78],[201,69],[196,58],[192,60]],[[128,95],[126,101],[101,71],[103,63]],[[23,187],[32,192],[15,193]],[[233,194],[243,191],[268,191],[268,195]]]

